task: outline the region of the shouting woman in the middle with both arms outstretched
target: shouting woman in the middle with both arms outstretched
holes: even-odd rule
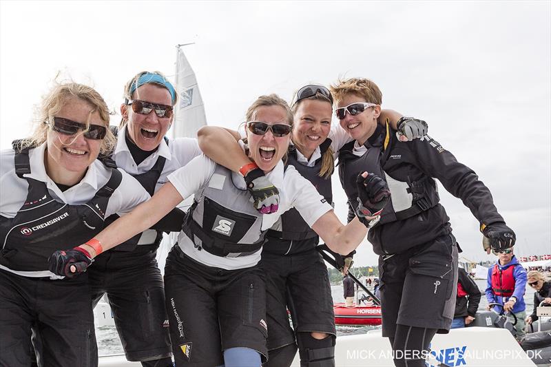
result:
[[[338,253],[353,251],[366,235],[358,220],[342,224],[331,205],[295,169],[284,169],[282,157],[289,148],[293,116],[282,98],[260,96],[246,118],[247,146],[243,148],[249,163],[242,176],[198,156],[170,174],[152,200],[81,245],[92,253],[90,243],[110,249],[194,194],[194,205],[165,267],[176,366],[260,367],[266,361],[266,297],[260,253],[265,233],[282,213],[296,208]],[[280,202],[276,213],[264,214],[251,205],[246,174],[253,169],[260,169],[277,187]],[[362,183],[358,191],[364,205],[376,211],[388,201],[388,189],[381,178],[371,179],[373,185]],[[79,269],[70,260],[61,260],[50,262],[51,269],[63,273],[63,269],[74,272],[85,267]]]

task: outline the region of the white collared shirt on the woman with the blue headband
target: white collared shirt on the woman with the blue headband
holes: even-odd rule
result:
[[[190,160],[202,154],[202,151],[199,149],[197,139],[168,138],[169,143],[167,145],[165,139],[163,138],[163,140],[160,141],[156,151],[145,158],[145,160],[143,160],[143,162],[139,165],[136,165],[136,162],[134,162],[134,158],[132,158],[132,154],[128,149],[128,145],[126,144],[126,132],[127,125],[123,126],[117,134],[118,138],[112,156],[117,167],[120,167],[127,171],[127,173],[135,176],[138,174],[144,174],[145,172],[151,170],[157,162],[157,158],[159,156],[165,157],[165,166],[163,167],[163,171],[161,172],[155,185],[155,192],[167,182],[167,176],[169,174],[176,171],[176,169],[180,167],[184,167]],[[147,229],[142,233],[138,244],[151,244],[154,242],[156,237],[156,231]]]

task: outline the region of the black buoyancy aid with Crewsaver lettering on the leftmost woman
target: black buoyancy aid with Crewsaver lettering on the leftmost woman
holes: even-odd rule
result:
[[[105,227],[107,203],[123,177],[111,169],[110,179],[94,198],[82,205],[69,205],[52,198],[44,182],[23,177],[30,174],[29,149],[16,150],[15,173],[27,180],[29,188],[17,215],[0,217],[0,264],[30,272],[29,276],[46,276],[42,273],[54,251],[78,246]]]

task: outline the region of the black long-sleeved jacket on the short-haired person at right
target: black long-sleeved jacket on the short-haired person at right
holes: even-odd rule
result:
[[[390,134],[392,143],[386,149],[391,151],[383,164],[386,174],[402,182],[436,178],[449,193],[463,201],[481,224],[504,222],[490,190],[478,179],[475,171],[457,162],[455,156],[437,141],[425,136],[424,140],[399,142],[393,138],[395,130],[391,129]],[[368,139],[369,149],[383,150],[385,137],[386,129],[378,126]],[[444,207],[437,204],[405,220],[373,227],[368,232],[368,240],[378,255],[402,253],[450,233],[449,220]]]

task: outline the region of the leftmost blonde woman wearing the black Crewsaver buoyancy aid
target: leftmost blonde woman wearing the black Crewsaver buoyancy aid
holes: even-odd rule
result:
[[[109,116],[92,87],[59,83],[43,98],[34,134],[0,153],[1,366],[30,366],[31,328],[43,366],[97,366],[87,276],[52,273],[48,256],[61,248],[61,257],[90,264],[75,242],[149,198],[96,160],[114,143]]]

